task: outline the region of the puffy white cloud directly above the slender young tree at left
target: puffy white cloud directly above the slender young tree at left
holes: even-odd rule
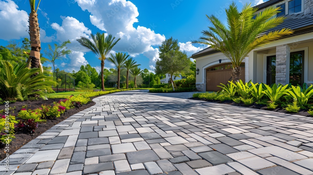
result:
[[[82,47],[77,41],[77,38],[87,37],[91,34],[91,30],[85,27],[83,22],[79,22],[74,17],[62,17],[62,25],[60,26],[57,23],[52,23],[51,27],[56,30],[56,40],[59,42],[64,42],[69,40],[71,44],[68,44],[67,47],[74,51],[88,51],[85,47]]]

